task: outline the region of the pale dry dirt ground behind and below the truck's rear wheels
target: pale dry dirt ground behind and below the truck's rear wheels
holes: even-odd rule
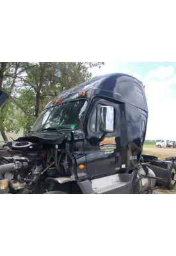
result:
[[[143,154],[157,156],[164,159],[169,156],[176,156],[176,148],[157,148],[156,146],[144,145]],[[173,190],[169,189],[156,189],[154,194],[176,194],[176,187]]]

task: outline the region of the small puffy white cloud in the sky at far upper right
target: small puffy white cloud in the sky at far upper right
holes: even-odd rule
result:
[[[152,69],[148,74],[146,75],[147,79],[150,78],[157,78],[159,80],[163,80],[167,77],[170,77],[174,74],[174,68],[172,66],[169,67],[163,67],[159,66],[157,69]]]

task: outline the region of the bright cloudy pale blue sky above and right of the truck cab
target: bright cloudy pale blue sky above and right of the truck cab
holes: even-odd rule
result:
[[[148,103],[146,140],[176,140],[176,62],[105,62],[93,76],[122,72],[143,82]]]

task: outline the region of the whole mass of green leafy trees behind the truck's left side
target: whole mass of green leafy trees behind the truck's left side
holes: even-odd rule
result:
[[[9,99],[0,109],[0,131],[4,140],[5,132],[24,133],[35,122],[47,102],[63,90],[92,79],[93,67],[104,63],[84,62],[24,62],[0,63],[0,88],[10,93]],[[24,115],[14,116],[14,104]]]

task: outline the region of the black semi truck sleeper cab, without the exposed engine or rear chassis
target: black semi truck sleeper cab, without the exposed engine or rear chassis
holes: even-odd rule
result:
[[[141,81],[109,74],[60,93],[45,106],[30,134],[17,141],[57,147],[66,138],[70,177],[83,193],[130,193],[147,118]]]

